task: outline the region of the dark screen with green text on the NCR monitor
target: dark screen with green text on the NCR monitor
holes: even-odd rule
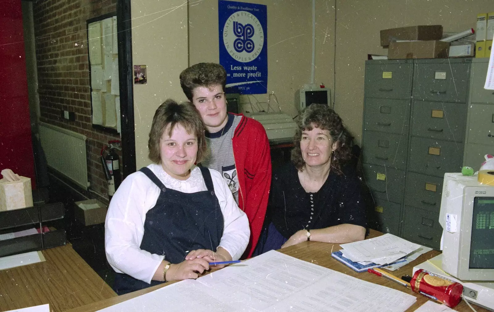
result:
[[[494,197],[473,201],[470,268],[494,268]]]

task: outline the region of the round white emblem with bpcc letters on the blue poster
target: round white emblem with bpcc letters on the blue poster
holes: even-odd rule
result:
[[[240,62],[250,62],[259,56],[264,45],[264,31],[250,12],[237,11],[223,27],[223,43],[228,54]]]

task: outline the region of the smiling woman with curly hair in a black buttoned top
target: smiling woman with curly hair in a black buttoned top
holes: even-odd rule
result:
[[[341,118],[327,105],[312,104],[297,126],[292,163],[273,171],[267,228],[256,254],[307,240],[348,243],[365,237],[361,181],[347,165],[352,136]]]

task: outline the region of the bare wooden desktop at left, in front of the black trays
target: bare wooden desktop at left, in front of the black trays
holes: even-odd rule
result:
[[[0,270],[0,311],[49,304],[60,312],[117,297],[71,244],[42,254],[43,262]]]

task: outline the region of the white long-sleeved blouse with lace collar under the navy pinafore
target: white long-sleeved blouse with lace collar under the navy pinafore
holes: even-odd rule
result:
[[[168,175],[161,165],[149,165],[149,169],[167,188],[184,193],[206,191],[206,184],[199,167],[194,166],[187,180],[177,180]],[[223,247],[233,260],[238,260],[247,248],[250,236],[247,215],[239,209],[220,173],[210,170],[214,194],[223,213],[223,236],[218,247]],[[160,188],[142,172],[135,172],[124,179],[108,207],[105,222],[106,258],[116,272],[151,283],[154,273],[165,258],[139,248],[144,235],[146,213],[156,205]],[[191,233],[193,235],[193,233]]]

